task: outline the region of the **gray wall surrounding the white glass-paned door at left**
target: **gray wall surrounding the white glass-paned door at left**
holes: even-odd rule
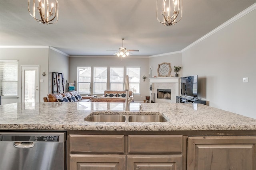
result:
[[[2,96],[2,104],[10,104],[20,102],[20,65],[40,65],[40,78],[44,82],[40,82],[40,102],[43,97],[48,94],[48,53],[49,47],[42,48],[0,48],[0,59],[2,60],[18,60],[18,99],[6,99]],[[46,76],[42,76],[42,72],[46,72]]]

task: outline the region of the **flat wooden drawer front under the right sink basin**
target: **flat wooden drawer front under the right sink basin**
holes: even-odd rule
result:
[[[182,135],[129,135],[129,153],[182,153]]]

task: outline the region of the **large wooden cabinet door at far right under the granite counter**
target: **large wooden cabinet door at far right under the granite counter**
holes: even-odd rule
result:
[[[188,137],[187,170],[256,170],[256,137]]]

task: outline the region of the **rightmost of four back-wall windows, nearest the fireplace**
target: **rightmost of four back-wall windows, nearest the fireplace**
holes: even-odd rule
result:
[[[126,74],[129,76],[130,90],[140,94],[140,67],[127,67]]]

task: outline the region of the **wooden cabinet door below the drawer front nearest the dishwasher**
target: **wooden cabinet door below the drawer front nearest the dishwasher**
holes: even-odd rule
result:
[[[125,170],[125,155],[70,154],[70,170]]]

